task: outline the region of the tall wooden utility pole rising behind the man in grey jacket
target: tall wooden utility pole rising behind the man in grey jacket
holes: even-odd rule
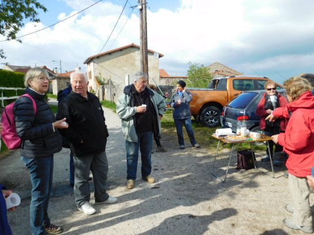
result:
[[[146,0],[138,0],[139,19],[140,19],[140,62],[141,71],[148,76],[148,54],[147,54],[147,17],[146,17]],[[147,77],[148,82],[148,77]]]

